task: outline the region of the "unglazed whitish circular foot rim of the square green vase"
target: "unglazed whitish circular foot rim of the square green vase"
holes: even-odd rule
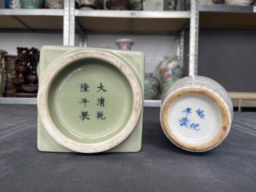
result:
[[[123,130],[121,130],[120,133],[117,133],[112,138],[99,143],[82,143],[67,138],[54,124],[54,120],[51,117],[48,106],[49,89],[52,81],[58,75],[58,73],[65,69],[65,67],[69,66],[69,64],[72,64],[74,61],[87,58],[102,59],[104,62],[112,64],[123,73],[125,78],[128,80],[128,83],[130,83],[131,91],[133,92],[133,107],[128,123],[124,125]],[[137,80],[133,71],[125,64],[125,62],[123,62],[122,59],[115,57],[113,54],[97,50],[75,51],[67,54],[65,57],[55,61],[54,64],[47,69],[47,72],[42,78],[40,85],[41,86],[38,91],[38,115],[40,120],[46,131],[49,133],[49,135],[51,135],[51,138],[67,149],[82,153],[107,151],[122,143],[125,138],[132,133],[133,129],[137,125],[137,122],[139,121],[143,106],[141,86],[139,85],[139,81]]]

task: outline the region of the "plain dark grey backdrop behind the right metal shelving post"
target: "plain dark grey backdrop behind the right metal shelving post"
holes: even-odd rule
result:
[[[186,30],[183,75],[188,75],[188,54]],[[218,81],[227,91],[256,92],[256,31],[199,30],[198,75]]]

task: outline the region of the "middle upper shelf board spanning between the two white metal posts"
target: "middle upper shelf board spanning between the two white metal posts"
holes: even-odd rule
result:
[[[86,33],[177,33],[189,19],[190,12],[75,10]]]

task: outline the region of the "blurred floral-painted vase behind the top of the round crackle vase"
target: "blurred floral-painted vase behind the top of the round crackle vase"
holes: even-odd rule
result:
[[[181,78],[183,63],[176,55],[165,56],[164,60],[157,66],[157,79],[160,82],[162,95],[170,88],[176,80]]]

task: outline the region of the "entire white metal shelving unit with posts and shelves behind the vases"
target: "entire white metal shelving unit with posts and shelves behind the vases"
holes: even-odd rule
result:
[[[183,60],[183,30],[189,27],[189,75],[197,75],[199,28],[256,29],[256,9],[223,4],[199,5],[191,1],[191,11],[141,12],[75,9],[75,0],[65,0],[64,9],[0,9],[0,32],[63,33],[63,45],[86,46],[90,33],[172,34],[176,54]],[[0,104],[36,104],[36,99],[0,98]],[[160,101],[145,100],[146,107],[160,107]]]

